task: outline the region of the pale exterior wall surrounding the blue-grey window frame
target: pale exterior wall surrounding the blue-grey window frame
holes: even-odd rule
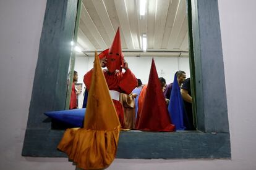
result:
[[[0,169],[75,169],[67,158],[20,156],[45,6],[0,1]],[[219,1],[232,160],[116,159],[109,169],[256,169],[255,6]]]

